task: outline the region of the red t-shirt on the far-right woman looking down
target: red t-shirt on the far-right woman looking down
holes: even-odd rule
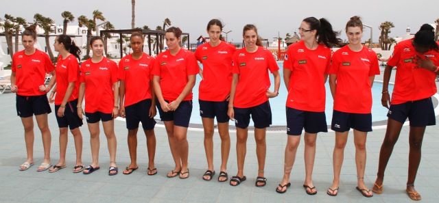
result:
[[[438,51],[430,50],[421,55],[415,51],[412,41],[412,39],[404,40],[396,44],[392,57],[387,62],[389,66],[397,67],[392,105],[429,98],[438,92],[435,83],[436,72],[417,68],[414,60],[416,55],[419,55],[430,59],[435,66],[439,66]]]

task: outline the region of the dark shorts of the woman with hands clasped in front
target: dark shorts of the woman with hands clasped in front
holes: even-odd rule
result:
[[[169,101],[166,102],[169,103]],[[189,120],[191,120],[192,113],[192,100],[182,101],[175,111],[163,111],[160,107],[160,103],[157,103],[157,109],[162,121],[174,121],[174,125],[176,126],[189,127]]]

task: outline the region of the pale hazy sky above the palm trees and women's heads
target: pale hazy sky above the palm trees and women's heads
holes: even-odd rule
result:
[[[73,3],[69,3],[73,2]],[[116,29],[131,28],[131,0],[0,0],[0,18],[4,14],[20,16],[33,21],[36,12],[54,19],[62,25],[61,12],[72,12],[75,18],[85,15],[92,17],[93,10],[101,11],[115,25]],[[351,16],[358,15],[364,24],[372,27],[373,42],[378,42],[379,25],[384,21],[394,23],[390,36],[405,35],[407,27],[416,33],[423,23],[434,23],[439,18],[439,1],[248,1],[248,0],[137,0],[136,27],[148,25],[151,29],[163,26],[169,18],[171,25],[190,33],[191,42],[198,36],[207,36],[206,25],[212,18],[218,18],[225,25],[228,40],[242,41],[242,28],[246,24],[258,27],[259,35],[272,41],[275,37],[285,38],[286,33],[294,33],[303,18],[314,16],[327,18],[337,31],[342,31]],[[78,25],[75,19],[74,25]],[[364,30],[363,40],[370,38],[370,29]]]

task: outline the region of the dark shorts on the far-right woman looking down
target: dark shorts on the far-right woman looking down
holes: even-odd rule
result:
[[[401,123],[404,123],[409,118],[410,126],[415,127],[433,126],[436,124],[431,97],[399,105],[390,105],[387,116]]]

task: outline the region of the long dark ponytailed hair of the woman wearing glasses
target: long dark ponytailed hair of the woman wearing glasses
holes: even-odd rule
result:
[[[316,38],[318,44],[324,44],[329,48],[342,44],[342,39],[337,38],[340,36],[340,32],[334,31],[331,23],[329,23],[327,19],[320,18],[320,20],[318,20],[317,18],[309,17],[303,19],[303,21],[309,24],[309,29],[317,30]]]

